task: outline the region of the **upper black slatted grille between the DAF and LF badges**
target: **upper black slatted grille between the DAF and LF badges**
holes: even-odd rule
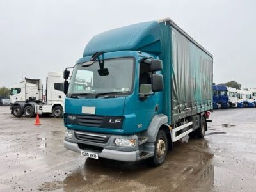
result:
[[[79,125],[100,127],[102,125],[104,116],[77,115],[76,118]]]

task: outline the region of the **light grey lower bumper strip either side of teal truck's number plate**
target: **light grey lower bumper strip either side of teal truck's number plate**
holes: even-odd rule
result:
[[[75,152],[81,152],[81,149],[78,147],[77,143],[71,143],[68,141],[64,141],[64,147],[68,150],[73,150]],[[90,151],[90,150],[86,150]],[[139,151],[118,151],[118,150],[109,150],[104,148],[102,152],[99,153],[99,157],[106,158],[106,159],[113,159],[117,161],[127,161],[133,162],[137,161],[137,157],[139,156]]]

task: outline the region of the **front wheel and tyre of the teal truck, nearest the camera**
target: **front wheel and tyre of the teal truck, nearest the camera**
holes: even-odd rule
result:
[[[168,140],[166,133],[163,130],[159,130],[155,141],[154,156],[152,157],[152,163],[154,166],[160,166],[164,163],[164,159],[167,154]]]

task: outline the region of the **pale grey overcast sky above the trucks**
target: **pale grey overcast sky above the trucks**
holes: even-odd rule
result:
[[[0,86],[72,67],[93,35],[170,17],[214,56],[214,82],[256,87],[256,1],[0,0]]]

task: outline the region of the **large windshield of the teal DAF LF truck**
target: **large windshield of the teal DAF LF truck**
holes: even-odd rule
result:
[[[68,97],[90,93],[131,92],[134,58],[104,60],[104,68],[108,69],[105,76],[99,74],[99,61],[83,66],[77,64],[74,68],[68,87]]]

